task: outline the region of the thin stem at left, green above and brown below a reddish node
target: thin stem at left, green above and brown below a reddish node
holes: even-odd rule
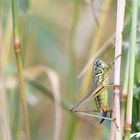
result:
[[[23,111],[23,119],[24,119],[24,132],[25,139],[30,140],[30,132],[29,132],[29,124],[28,124],[28,110],[26,105],[26,97],[25,97],[25,86],[24,86],[24,73],[23,73],[23,60],[21,54],[21,46],[20,46],[20,36],[19,36],[19,23],[18,23],[18,10],[17,10],[17,0],[12,0],[12,16],[13,16],[13,33],[14,33],[14,51],[17,62],[18,69],[18,80],[19,80],[19,93],[21,98],[21,105]]]

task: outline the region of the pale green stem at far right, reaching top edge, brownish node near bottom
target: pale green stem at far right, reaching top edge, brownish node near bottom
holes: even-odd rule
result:
[[[135,48],[136,48],[136,30],[138,18],[138,0],[132,1],[132,25],[131,25],[131,45],[129,58],[129,86],[126,108],[126,126],[125,140],[130,139],[131,123],[132,123],[132,105],[133,105],[133,86],[134,86],[134,71],[135,71]]]

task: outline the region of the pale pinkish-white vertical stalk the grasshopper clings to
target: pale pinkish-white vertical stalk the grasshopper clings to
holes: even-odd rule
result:
[[[116,43],[115,43],[115,58],[122,54],[122,31],[124,24],[125,0],[118,0],[117,2],[117,21],[116,21]],[[116,123],[119,127],[115,131],[114,122],[111,122],[111,136],[110,139],[121,140],[121,123],[120,123],[120,70],[121,70],[121,56],[115,60],[114,65],[114,99],[113,99],[113,113],[112,118],[116,118]]]

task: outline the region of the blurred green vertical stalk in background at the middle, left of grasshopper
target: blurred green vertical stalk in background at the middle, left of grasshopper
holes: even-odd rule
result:
[[[78,21],[79,14],[79,1],[72,0],[72,23],[71,23],[71,32],[70,32],[70,47],[69,47],[69,95],[74,95],[76,89],[76,56],[75,56],[75,33],[76,25]],[[66,134],[67,140],[73,140],[75,137],[75,132],[78,126],[78,119],[76,117],[70,116],[68,121],[68,131]]]

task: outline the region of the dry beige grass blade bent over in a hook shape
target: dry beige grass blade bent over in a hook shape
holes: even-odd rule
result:
[[[44,73],[48,76],[49,81],[52,86],[52,93],[54,94],[54,103],[55,103],[55,134],[54,140],[61,139],[61,120],[62,120],[62,109],[61,109],[61,95],[60,95],[60,85],[59,77],[57,73],[45,66],[37,66],[35,68],[30,68],[26,71],[26,77],[29,80],[37,78],[40,74]]]

